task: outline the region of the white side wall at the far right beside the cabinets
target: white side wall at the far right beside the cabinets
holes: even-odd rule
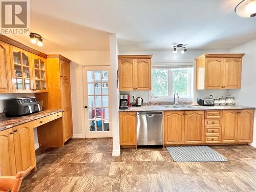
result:
[[[256,106],[256,39],[234,47],[230,53],[245,53],[242,64],[242,85],[240,90],[229,90],[236,104]],[[254,114],[253,145],[256,147],[256,114]]]

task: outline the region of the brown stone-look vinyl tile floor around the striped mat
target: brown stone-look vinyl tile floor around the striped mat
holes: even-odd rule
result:
[[[255,191],[256,148],[211,146],[228,162],[176,163],[164,148],[124,148],[112,139],[71,139],[36,150],[37,171],[20,191]]]

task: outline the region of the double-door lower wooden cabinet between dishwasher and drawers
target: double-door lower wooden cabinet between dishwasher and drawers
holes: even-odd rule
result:
[[[165,112],[164,144],[204,143],[204,111]]]

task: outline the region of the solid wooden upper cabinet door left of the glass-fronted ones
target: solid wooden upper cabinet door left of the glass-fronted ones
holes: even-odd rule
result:
[[[6,42],[0,41],[0,55],[0,93],[11,93],[10,50]]]

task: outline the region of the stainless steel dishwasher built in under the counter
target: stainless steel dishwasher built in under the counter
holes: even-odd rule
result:
[[[138,145],[163,145],[163,112],[137,112]]]

